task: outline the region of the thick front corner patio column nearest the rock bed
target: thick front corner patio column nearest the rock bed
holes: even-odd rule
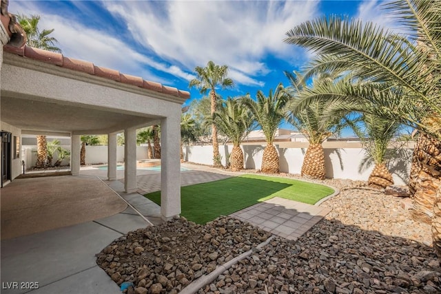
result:
[[[181,213],[181,105],[161,119],[161,218]]]

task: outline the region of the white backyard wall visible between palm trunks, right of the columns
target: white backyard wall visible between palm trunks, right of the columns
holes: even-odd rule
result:
[[[303,158],[307,150],[305,147],[280,147],[276,145],[280,156],[280,172],[289,174],[300,174]],[[264,145],[243,145],[241,146],[245,156],[245,168],[260,169],[262,165]],[[203,165],[213,164],[213,147],[187,146],[184,148],[184,158],[186,161],[200,163]],[[223,165],[225,158],[232,151],[231,145],[219,146],[219,152],[222,156]],[[402,149],[397,154],[396,160],[389,162],[389,171],[391,171],[396,185],[405,185],[409,178],[411,165],[411,156],[413,149]],[[343,178],[351,180],[367,180],[373,169],[373,165],[366,160],[367,154],[360,147],[344,148],[326,148],[325,147],[325,166],[327,178]],[[363,164],[365,162],[365,164]]]

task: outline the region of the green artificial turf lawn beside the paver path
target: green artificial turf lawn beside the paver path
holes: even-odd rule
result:
[[[334,190],[329,187],[300,180],[243,175],[181,187],[181,216],[205,224],[276,196],[315,204],[331,193]],[[161,205],[161,191],[145,194],[145,197]]]

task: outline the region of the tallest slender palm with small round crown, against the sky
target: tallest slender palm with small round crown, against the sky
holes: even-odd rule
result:
[[[189,82],[189,87],[196,87],[200,90],[201,94],[206,94],[209,91],[211,98],[210,114],[213,115],[216,111],[216,87],[225,89],[227,87],[234,87],[233,80],[227,78],[228,67],[227,65],[216,65],[213,61],[208,61],[206,67],[196,66],[194,68],[196,72],[196,78],[193,78]],[[212,141],[213,141],[213,165],[215,167],[221,167],[218,143],[218,130],[216,125],[212,124]]]

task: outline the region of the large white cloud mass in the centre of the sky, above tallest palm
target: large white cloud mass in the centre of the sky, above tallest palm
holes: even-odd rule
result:
[[[285,32],[311,19],[317,1],[130,1],[103,2],[123,18],[134,39],[170,63],[192,71],[212,60],[229,65],[231,77],[244,85],[271,69],[267,54],[290,56]]]

